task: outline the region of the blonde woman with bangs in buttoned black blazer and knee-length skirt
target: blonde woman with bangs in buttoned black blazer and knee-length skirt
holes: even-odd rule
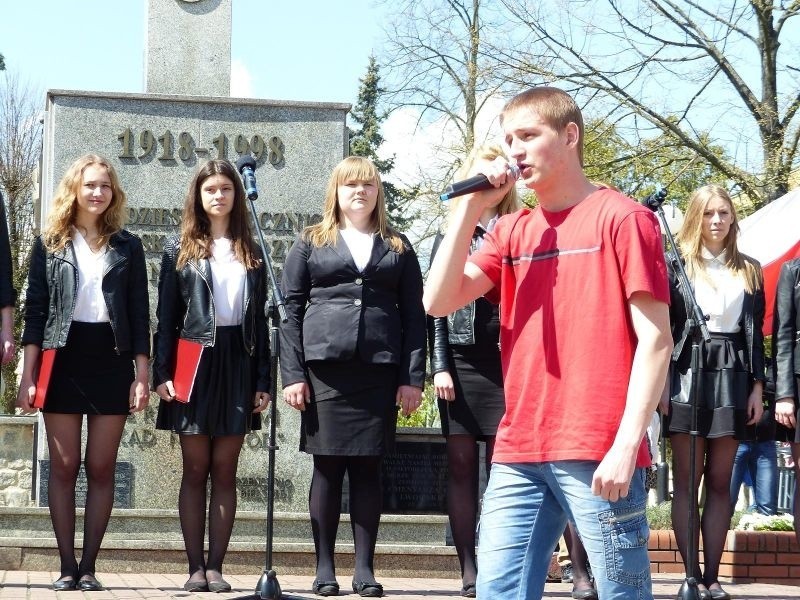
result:
[[[342,480],[350,482],[353,590],[383,595],[373,556],[381,514],[381,456],[397,406],[420,404],[425,378],[422,275],[408,240],[387,224],[375,165],[349,157],[333,170],[323,219],[300,234],[283,267],[283,398],[303,411],[300,449],[314,457],[309,512],[313,590],[339,592],[334,544]]]

